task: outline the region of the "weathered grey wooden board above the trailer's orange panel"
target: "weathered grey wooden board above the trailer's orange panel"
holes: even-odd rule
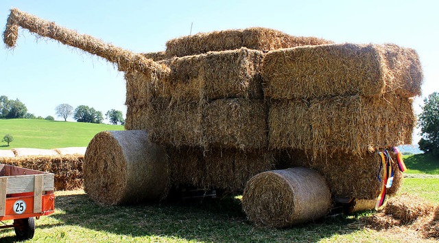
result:
[[[6,194],[34,192],[34,176],[8,176]],[[43,176],[43,191],[54,191],[54,174],[41,174]]]

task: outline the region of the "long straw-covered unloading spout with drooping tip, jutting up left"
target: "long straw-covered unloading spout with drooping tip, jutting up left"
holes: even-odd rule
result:
[[[148,76],[153,75],[158,76],[158,78],[164,78],[170,73],[170,69],[166,65],[160,65],[141,54],[104,43],[93,36],[79,34],[74,30],[61,27],[54,22],[40,19],[16,8],[11,9],[5,31],[3,32],[3,42],[8,47],[12,48],[15,46],[16,40],[19,37],[19,26],[38,36],[52,38],[64,45],[77,47],[90,54],[100,56],[117,64],[120,71],[141,71]]]

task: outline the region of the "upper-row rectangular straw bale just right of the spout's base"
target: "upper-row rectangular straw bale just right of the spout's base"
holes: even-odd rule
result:
[[[261,98],[261,51],[246,48],[172,58],[161,63],[171,68],[163,80],[175,99],[214,100],[224,97]]]

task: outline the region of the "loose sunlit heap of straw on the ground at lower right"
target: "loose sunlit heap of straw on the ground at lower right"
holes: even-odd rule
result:
[[[385,214],[391,215],[404,224],[414,222],[419,217],[428,216],[433,211],[434,205],[427,200],[411,194],[401,194],[388,200],[385,205]]]

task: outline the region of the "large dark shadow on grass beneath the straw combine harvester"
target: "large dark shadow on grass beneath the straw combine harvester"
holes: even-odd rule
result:
[[[64,225],[79,225],[132,237],[163,235],[206,242],[315,242],[334,234],[359,230],[351,227],[357,220],[346,216],[291,229],[257,228],[246,220],[240,201],[231,197],[203,203],[117,207],[99,207],[86,194],[58,196],[56,200],[56,208],[65,213],[52,217]]]

